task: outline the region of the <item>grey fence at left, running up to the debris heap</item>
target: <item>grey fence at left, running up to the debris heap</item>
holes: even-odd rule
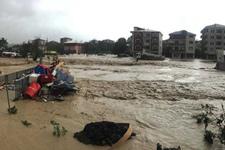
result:
[[[29,74],[34,67],[0,76],[0,83],[6,85],[7,98],[17,100],[29,84]]]

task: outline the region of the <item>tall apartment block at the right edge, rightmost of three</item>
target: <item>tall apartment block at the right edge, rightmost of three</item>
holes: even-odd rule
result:
[[[202,31],[202,49],[207,59],[216,59],[219,49],[225,49],[225,26],[213,24],[206,26]]]

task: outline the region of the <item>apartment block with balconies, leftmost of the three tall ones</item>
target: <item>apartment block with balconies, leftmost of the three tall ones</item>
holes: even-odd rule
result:
[[[162,55],[162,33],[134,27],[132,33],[132,52]]]

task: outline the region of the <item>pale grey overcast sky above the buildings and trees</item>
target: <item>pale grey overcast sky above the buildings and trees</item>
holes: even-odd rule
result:
[[[159,30],[163,39],[186,29],[225,25],[224,0],[0,0],[0,37],[20,43],[41,37],[74,40],[129,37],[134,26]]]

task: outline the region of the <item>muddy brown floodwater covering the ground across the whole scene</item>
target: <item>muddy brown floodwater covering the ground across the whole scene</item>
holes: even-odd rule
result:
[[[81,90],[64,102],[12,102],[18,114],[8,115],[5,94],[0,92],[0,149],[108,150],[73,139],[73,133],[85,124],[103,120],[129,122],[137,133],[118,150],[155,149],[158,142],[184,150],[225,149],[218,142],[204,143],[203,126],[192,118],[200,104],[225,104],[225,72],[213,69],[214,62],[165,60],[124,65],[133,61],[126,58],[119,59],[119,65],[114,64],[118,59],[104,58],[110,61],[104,65],[82,59],[87,65],[68,65]],[[66,127],[65,137],[52,135],[52,119]],[[32,126],[24,127],[21,120]]]

